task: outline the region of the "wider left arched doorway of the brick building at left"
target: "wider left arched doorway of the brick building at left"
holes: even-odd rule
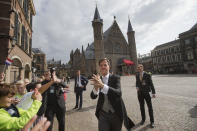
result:
[[[16,82],[21,79],[22,63],[18,58],[13,59],[13,63],[10,66],[10,82]]]

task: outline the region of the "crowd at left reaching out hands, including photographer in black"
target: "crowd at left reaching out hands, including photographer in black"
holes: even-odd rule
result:
[[[19,80],[14,84],[3,82],[0,75],[0,131],[51,131],[56,115],[59,131],[65,130],[64,91],[68,86],[56,77],[54,69],[44,74],[44,80],[26,83]],[[26,83],[26,84],[25,84]],[[28,100],[30,95],[31,101]],[[30,104],[29,107],[26,104]]]

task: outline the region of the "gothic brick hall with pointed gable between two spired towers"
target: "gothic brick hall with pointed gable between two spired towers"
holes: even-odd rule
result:
[[[96,7],[92,21],[94,41],[88,44],[84,50],[76,49],[70,53],[71,72],[74,75],[76,70],[80,69],[81,73],[91,76],[98,72],[98,61],[101,58],[108,58],[111,64],[111,72],[115,74],[135,73],[137,65],[137,52],[135,43],[135,31],[133,30],[130,20],[128,22],[127,37],[125,39],[119,25],[114,18],[112,25],[103,32],[103,19]],[[135,64],[128,65],[124,59],[133,61]]]

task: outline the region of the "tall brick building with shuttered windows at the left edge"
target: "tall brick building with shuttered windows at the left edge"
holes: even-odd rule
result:
[[[0,0],[0,71],[6,58],[13,60],[5,70],[6,82],[31,79],[33,0]]]

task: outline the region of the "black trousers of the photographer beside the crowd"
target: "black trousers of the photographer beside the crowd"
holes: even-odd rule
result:
[[[58,105],[47,106],[45,116],[51,122],[47,131],[52,131],[54,115],[56,115],[58,120],[59,131],[65,131],[65,112],[66,107],[59,107]]]

